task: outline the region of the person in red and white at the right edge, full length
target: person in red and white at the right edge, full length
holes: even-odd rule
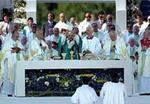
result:
[[[150,93],[150,29],[144,32],[141,43],[141,52],[139,54],[138,77],[139,77],[139,93]]]

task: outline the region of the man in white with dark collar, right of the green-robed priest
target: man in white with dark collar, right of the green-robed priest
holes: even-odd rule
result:
[[[92,54],[100,56],[101,44],[99,39],[93,35],[93,29],[91,27],[87,27],[86,34],[87,36],[85,36],[82,40],[82,51],[90,51]]]

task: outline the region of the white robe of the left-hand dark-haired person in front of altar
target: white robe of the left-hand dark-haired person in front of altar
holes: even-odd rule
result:
[[[95,104],[97,99],[98,96],[92,87],[82,85],[76,89],[76,92],[71,97],[71,102],[73,104]]]

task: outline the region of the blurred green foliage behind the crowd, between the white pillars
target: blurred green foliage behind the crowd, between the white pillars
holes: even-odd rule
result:
[[[44,21],[47,21],[48,11],[52,11],[55,14],[55,20],[59,20],[59,14],[64,12],[67,19],[74,16],[77,21],[80,22],[84,19],[84,13],[89,11],[94,15],[100,10],[108,13],[112,13],[115,16],[115,3],[38,3],[37,6],[37,22],[41,26]]]

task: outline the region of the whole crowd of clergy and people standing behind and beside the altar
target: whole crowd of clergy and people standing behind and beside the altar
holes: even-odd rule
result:
[[[0,85],[7,77],[14,86],[15,63],[19,60],[131,60],[135,65],[133,75],[140,77],[141,93],[150,93],[150,16],[144,21],[138,14],[136,22],[127,24],[125,31],[119,31],[114,16],[103,11],[98,13],[97,20],[92,19],[91,12],[86,12],[79,23],[75,17],[68,21],[65,13],[59,14],[58,22],[54,13],[47,16],[42,29],[32,17],[21,29],[4,15],[0,22]]]

